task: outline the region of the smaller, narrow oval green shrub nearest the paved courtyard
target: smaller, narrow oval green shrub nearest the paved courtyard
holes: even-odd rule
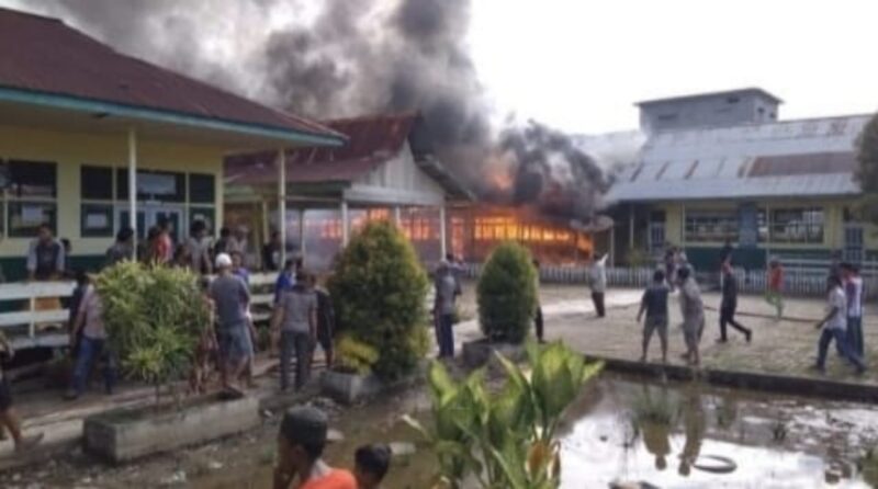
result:
[[[522,342],[537,310],[537,270],[530,252],[511,241],[495,248],[482,270],[476,295],[485,337]]]

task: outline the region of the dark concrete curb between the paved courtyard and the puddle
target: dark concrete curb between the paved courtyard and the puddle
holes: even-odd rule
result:
[[[788,375],[757,374],[714,368],[696,369],[685,365],[642,363],[631,360],[585,355],[589,361],[601,361],[611,372],[674,380],[700,379],[708,384],[751,389],[773,394],[831,398],[857,402],[878,402],[878,385],[854,384],[824,378]]]

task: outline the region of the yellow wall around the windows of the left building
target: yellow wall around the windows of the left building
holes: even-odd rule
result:
[[[103,253],[111,238],[80,238],[80,166],[127,168],[126,134],[78,134],[0,126],[0,158],[57,163],[58,237],[69,238],[74,255]],[[216,219],[223,212],[223,151],[215,147],[142,139],[137,167],[145,170],[211,173],[216,177]],[[30,239],[4,237],[0,257],[22,257]]]

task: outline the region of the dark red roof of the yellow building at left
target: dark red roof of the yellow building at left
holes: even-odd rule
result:
[[[319,124],[116,53],[60,20],[8,9],[0,9],[0,88],[337,137]]]

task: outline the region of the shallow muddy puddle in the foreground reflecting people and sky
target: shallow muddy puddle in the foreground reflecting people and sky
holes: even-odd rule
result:
[[[644,399],[664,400],[669,425],[638,421],[634,412],[643,408],[635,408]],[[327,458],[350,467],[362,443],[416,441],[398,419],[426,408],[421,393],[402,403],[389,400],[349,411],[336,427],[346,439],[328,448]],[[851,468],[878,441],[878,408],[870,406],[605,376],[583,394],[569,418],[562,435],[565,489],[606,488],[612,481],[661,488],[873,487]],[[698,468],[722,468],[725,459],[735,465],[729,474]],[[830,467],[847,467],[848,474],[830,485]],[[432,473],[432,456],[419,452],[394,460],[385,487],[428,487]],[[270,465],[262,460],[236,467],[234,475],[193,479],[191,487],[270,487]]]

